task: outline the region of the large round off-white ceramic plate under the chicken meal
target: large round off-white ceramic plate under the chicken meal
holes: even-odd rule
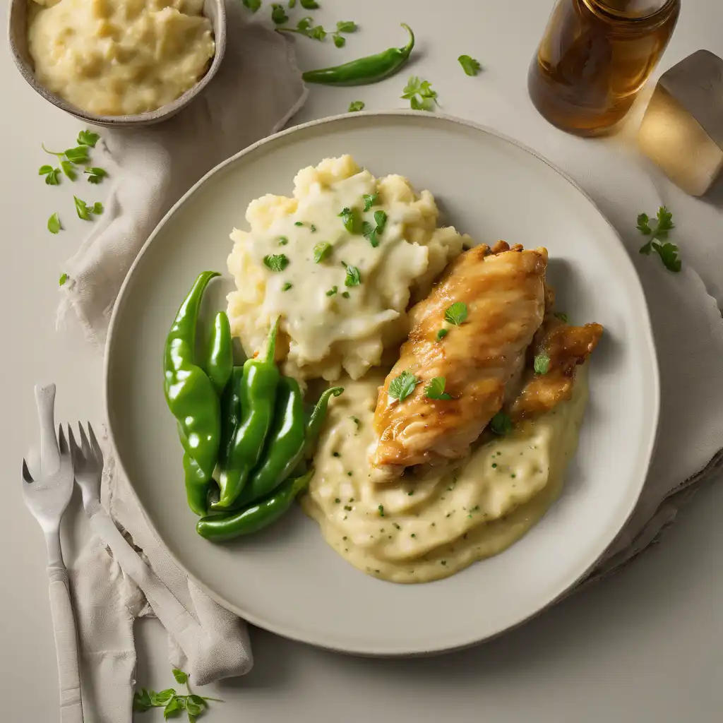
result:
[[[299,508],[262,534],[216,545],[186,505],[176,423],[163,398],[163,343],[197,273],[226,274],[228,234],[252,199],[291,194],[299,168],[351,153],[376,176],[435,194],[476,241],[549,249],[558,308],[605,334],[560,500],[520,542],[444,581],[403,586],[360,573]],[[148,239],[121,291],[106,349],[106,405],[119,462],[175,560],[218,602],[288,638],[355,654],[423,654],[482,641],[543,609],[583,576],[638,500],[659,390],[643,291],[617,234],[585,194],[529,149],[456,119],[352,114],[272,136],[205,176]]]

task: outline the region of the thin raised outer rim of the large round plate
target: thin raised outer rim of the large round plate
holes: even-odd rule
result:
[[[652,414],[651,414],[651,420],[652,420],[652,429],[651,429],[651,435],[649,440],[647,440],[646,449],[644,450],[644,454],[641,455],[641,458],[644,457],[644,463],[643,463],[643,469],[644,473],[641,475],[641,481],[638,482],[638,487],[635,490],[635,494],[631,498],[629,509],[626,510],[625,515],[621,517],[620,524],[617,526],[617,529],[612,533],[612,536],[609,539],[609,542],[604,546],[602,550],[599,552],[596,552],[596,554],[593,555],[592,559],[586,558],[586,562],[583,564],[583,570],[576,574],[576,576],[571,580],[569,583],[565,584],[564,588],[561,589],[555,596],[553,596],[549,601],[545,604],[543,604],[541,607],[537,608],[536,610],[529,612],[527,614],[521,615],[521,617],[518,618],[518,620],[515,620],[513,623],[510,623],[509,625],[506,625],[503,628],[500,628],[499,630],[495,630],[492,633],[489,633],[484,636],[472,636],[471,639],[465,642],[453,642],[450,644],[440,644],[437,646],[419,646],[414,649],[400,649],[398,651],[382,651],[375,649],[375,646],[367,646],[367,647],[360,647],[356,646],[356,648],[351,649],[348,646],[344,647],[341,643],[334,643],[333,641],[318,641],[312,636],[304,635],[300,631],[290,629],[288,627],[285,627],[284,625],[278,625],[278,624],[269,624],[265,620],[262,620],[262,618],[257,617],[256,615],[249,615],[247,612],[244,612],[239,607],[231,603],[230,601],[223,598],[223,596],[219,595],[210,587],[205,585],[205,583],[202,583],[200,580],[195,578],[191,573],[189,573],[189,570],[185,567],[183,562],[176,557],[176,554],[171,551],[170,547],[163,541],[163,537],[161,534],[158,533],[158,530],[155,528],[155,525],[153,524],[153,521],[150,518],[150,515],[148,515],[147,511],[145,510],[144,505],[142,504],[140,498],[136,495],[134,490],[134,484],[132,482],[131,477],[127,473],[121,455],[119,454],[115,439],[114,439],[114,433],[113,433],[113,426],[111,424],[111,414],[109,414],[109,388],[110,388],[110,375],[109,372],[111,370],[111,351],[114,345],[114,331],[116,327],[117,319],[120,315],[121,308],[124,306],[124,304],[127,302],[127,289],[129,288],[129,283],[131,281],[132,275],[134,274],[134,271],[140,265],[141,259],[145,252],[147,251],[148,247],[150,247],[150,244],[153,243],[155,238],[161,234],[161,231],[163,230],[163,227],[166,226],[166,223],[170,221],[170,219],[176,214],[176,212],[189,200],[194,194],[196,194],[201,187],[206,184],[212,176],[220,172],[223,168],[226,168],[226,166],[231,165],[231,163],[236,163],[241,158],[244,158],[245,155],[249,155],[254,150],[257,150],[257,148],[260,148],[264,145],[273,145],[276,141],[279,139],[286,137],[288,135],[301,132],[305,129],[312,128],[315,126],[324,126],[326,124],[336,124],[339,121],[345,121],[346,119],[359,119],[362,117],[368,117],[369,119],[375,118],[388,118],[388,117],[413,117],[414,119],[424,119],[427,118],[429,121],[443,121],[455,125],[460,125],[463,127],[466,127],[468,129],[474,129],[476,131],[484,132],[489,135],[492,135],[493,137],[496,137],[499,140],[508,142],[512,144],[513,146],[517,147],[518,149],[522,150],[524,153],[528,153],[529,155],[532,155],[534,158],[536,158],[539,161],[542,161],[547,165],[549,168],[551,168],[555,173],[560,175],[562,179],[565,179],[565,181],[568,182],[578,193],[582,195],[582,197],[589,202],[589,204],[596,210],[596,212],[599,214],[600,218],[606,223],[606,225],[609,228],[609,231],[612,232],[613,236],[615,236],[615,239],[617,240],[617,243],[620,244],[621,250],[624,252],[625,257],[627,257],[628,263],[630,264],[630,269],[633,271],[633,286],[634,288],[631,289],[633,294],[636,294],[638,296],[638,304],[640,308],[640,314],[642,315],[641,322],[643,326],[644,331],[644,341],[646,341],[646,348],[649,350],[650,355],[650,361],[651,361],[651,369],[649,369],[649,381],[651,383],[651,390],[653,393],[653,397],[651,398],[651,404],[653,406]],[[427,122],[427,121],[422,121]],[[111,313],[111,320],[108,324],[108,331],[106,333],[106,343],[103,348],[103,411],[106,414],[106,420],[107,420],[107,430],[108,430],[108,441],[112,445],[112,448],[115,452],[115,463],[119,468],[119,471],[121,474],[124,474],[126,479],[129,482],[129,485],[132,489],[132,493],[136,499],[137,505],[139,506],[145,521],[147,522],[148,526],[150,527],[150,530],[155,535],[156,539],[158,539],[161,544],[163,544],[164,549],[166,550],[166,553],[171,557],[171,560],[174,561],[178,567],[184,571],[184,573],[187,574],[190,580],[194,582],[202,591],[205,592],[208,596],[210,596],[211,599],[213,599],[215,602],[220,604],[222,607],[230,610],[234,613],[234,615],[238,615],[241,620],[246,620],[247,623],[250,623],[251,625],[255,625],[257,628],[262,628],[263,630],[268,630],[271,633],[274,633],[275,635],[282,636],[283,638],[288,638],[289,640],[293,640],[299,643],[307,643],[308,645],[315,646],[320,649],[325,649],[329,651],[334,651],[338,653],[343,654],[349,654],[354,656],[363,656],[363,657],[378,657],[378,658],[399,658],[399,657],[418,657],[418,656],[429,656],[429,655],[435,655],[435,654],[442,654],[442,653],[448,653],[458,650],[464,650],[467,648],[470,648],[472,646],[479,645],[480,643],[493,640],[494,638],[497,638],[504,633],[507,633],[510,630],[515,630],[515,628],[519,628],[524,623],[527,623],[529,620],[532,620],[534,617],[537,617],[545,610],[549,609],[549,607],[552,607],[555,603],[560,601],[570,590],[572,590],[591,570],[594,565],[596,565],[596,562],[598,562],[605,554],[605,551],[609,548],[609,545],[612,544],[612,542],[615,540],[616,536],[620,533],[620,531],[623,529],[625,524],[630,519],[630,516],[633,514],[633,511],[636,509],[636,506],[638,504],[638,500],[641,497],[641,494],[643,492],[643,487],[645,486],[645,482],[648,476],[648,473],[650,471],[651,461],[652,457],[655,451],[656,447],[656,441],[658,437],[658,431],[659,431],[659,422],[660,422],[660,375],[659,375],[659,363],[658,363],[658,354],[657,349],[655,346],[655,337],[653,334],[653,328],[652,328],[652,322],[651,322],[651,316],[650,316],[650,309],[649,304],[645,296],[645,292],[643,290],[643,284],[641,282],[640,275],[638,274],[638,271],[635,268],[635,265],[633,264],[633,260],[630,258],[630,254],[628,253],[628,249],[626,249],[625,244],[623,243],[623,239],[620,237],[620,234],[618,234],[617,229],[615,226],[610,223],[609,219],[607,218],[604,213],[602,213],[602,210],[599,208],[599,206],[596,204],[596,202],[583,190],[579,184],[572,179],[568,174],[565,173],[565,171],[562,171],[562,168],[555,165],[555,163],[552,163],[552,161],[549,161],[547,158],[544,157],[544,155],[538,153],[533,148],[529,147],[528,145],[516,140],[513,137],[510,137],[508,135],[505,135],[496,129],[493,129],[489,126],[486,126],[484,124],[476,123],[475,121],[470,121],[468,119],[459,118],[458,116],[452,116],[448,114],[442,114],[442,113],[433,113],[433,114],[422,114],[420,111],[412,111],[407,109],[395,109],[395,110],[388,110],[388,111],[357,111],[354,113],[342,113],[337,114],[334,116],[327,116],[325,118],[321,119],[315,119],[312,121],[307,121],[306,123],[302,123],[299,125],[291,126],[289,128],[283,129],[281,131],[275,132],[273,134],[270,134],[260,140],[257,140],[257,142],[252,143],[252,145],[249,145],[241,150],[239,152],[234,153],[234,155],[229,156],[226,158],[225,161],[221,161],[221,163],[218,163],[217,166],[214,166],[210,169],[206,174],[204,174],[196,183],[190,187],[187,192],[185,192],[179,200],[177,200],[174,205],[171,206],[171,208],[168,209],[165,215],[163,215],[163,218],[161,218],[160,221],[158,221],[158,225],[155,226],[153,231],[150,233],[148,238],[146,239],[145,243],[143,244],[142,248],[140,249],[140,252],[138,252],[137,256],[135,257],[132,265],[130,266],[128,273],[126,274],[126,277],[123,280],[123,283],[121,284],[121,288],[119,289],[118,296],[116,296],[116,301],[113,306],[113,311]],[[408,647],[408,646],[407,646]]]

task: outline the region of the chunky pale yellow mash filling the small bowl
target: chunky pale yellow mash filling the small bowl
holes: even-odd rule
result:
[[[95,114],[137,114],[171,103],[202,77],[215,52],[202,0],[30,5],[28,42],[38,80]]]

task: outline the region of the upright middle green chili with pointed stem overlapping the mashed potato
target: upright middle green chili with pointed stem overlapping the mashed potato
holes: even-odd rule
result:
[[[258,359],[248,359],[244,364],[239,390],[241,421],[231,441],[226,469],[221,470],[218,479],[221,499],[213,503],[214,510],[228,509],[241,494],[249,472],[259,461],[264,440],[273,422],[276,387],[280,376],[274,363],[277,331],[278,319],[268,335],[265,354]]]

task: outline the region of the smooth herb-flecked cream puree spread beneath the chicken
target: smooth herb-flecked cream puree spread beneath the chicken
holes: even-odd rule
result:
[[[483,441],[466,460],[386,484],[369,464],[384,374],[345,379],[320,439],[304,510],[348,562],[393,582],[448,577],[497,555],[560,494],[577,447],[586,376],[580,369],[570,401],[506,437]]]

